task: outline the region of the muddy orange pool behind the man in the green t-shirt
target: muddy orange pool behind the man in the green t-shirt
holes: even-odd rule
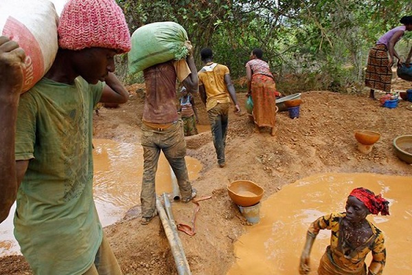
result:
[[[140,144],[118,143],[113,140],[93,140],[94,200],[103,226],[124,217],[126,211],[140,204],[143,148]],[[185,157],[190,179],[196,179],[201,163]],[[156,173],[156,192],[172,192],[170,166],[163,153]],[[13,213],[0,225],[0,256],[20,254],[13,236]]]

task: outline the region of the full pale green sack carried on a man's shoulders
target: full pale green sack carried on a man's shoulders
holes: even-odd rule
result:
[[[132,34],[132,50],[128,53],[130,74],[174,60],[181,60],[189,54],[185,41],[185,29],[174,22],[156,22],[144,25]]]

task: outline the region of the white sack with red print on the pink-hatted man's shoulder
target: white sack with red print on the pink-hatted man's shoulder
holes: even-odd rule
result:
[[[58,50],[58,15],[47,0],[1,0],[0,34],[25,51],[23,92],[52,67]]]

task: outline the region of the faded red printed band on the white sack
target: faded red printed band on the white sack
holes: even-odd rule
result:
[[[3,27],[3,36],[19,43],[26,54],[23,72],[23,91],[34,86],[45,74],[43,52],[36,38],[26,26],[13,17],[8,17]]]

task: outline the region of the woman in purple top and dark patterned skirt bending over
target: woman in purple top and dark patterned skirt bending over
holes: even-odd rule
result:
[[[398,58],[398,66],[402,63],[395,45],[406,31],[412,30],[412,16],[402,17],[400,23],[403,25],[380,36],[376,45],[369,51],[365,73],[365,86],[371,88],[369,98],[375,99],[375,89],[391,91],[393,56]],[[412,47],[405,61],[407,66],[411,62],[411,56]]]

